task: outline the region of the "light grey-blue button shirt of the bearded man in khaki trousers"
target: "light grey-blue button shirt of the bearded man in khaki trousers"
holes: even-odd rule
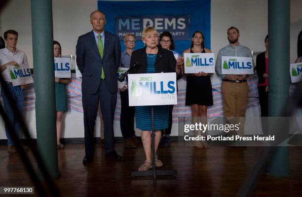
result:
[[[225,46],[224,48],[220,49],[219,52],[218,52],[218,55],[217,55],[215,69],[216,69],[217,75],[223,77],[222,70],[221,70],[221,57],[222,56],[251,58],[252,57],[252,52],[248,47],[243,46],[241,44],[237,44],[237,46],[235,46],[235,47],[232,47],[229,44],[229,45]],[[254,62],[253,62],[253,66],[255,66]]]

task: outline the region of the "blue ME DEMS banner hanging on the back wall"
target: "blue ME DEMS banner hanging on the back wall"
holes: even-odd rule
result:
[[[205,47],[211,48],[211,0],[175,1],[98,1],[98,9],[106,15],[105,30],[119,36],[122,51],[126,33],[136,36],[135,50],[144,47],[142,31],[147,26],[158,33],[173,35],[175,51],[182,54],[191,44],[195,31],[204,34]]]

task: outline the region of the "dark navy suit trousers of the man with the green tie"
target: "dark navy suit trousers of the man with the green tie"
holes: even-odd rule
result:
[[[93,133],[99,100],[104,121],[105,153],[110,153],[114,150],[113,119],[116,105],[116,93],[110,93],[107,90],[104,80],[101,80],[99,90],[96,94],[82,94],[85,154],[88,157],[92,157],[94,153]]]

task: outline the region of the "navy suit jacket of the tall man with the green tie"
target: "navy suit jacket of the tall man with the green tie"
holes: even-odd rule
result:
[[[105,31],[104,53],[101,58],[93,31],[78,37],[76,44],[76,64],[82,73],[82,93],[95,94],[101,81],[102,67],[105,84],[110,93],[117,92],[116,72],[120,62],[120,42],[118,36]]]

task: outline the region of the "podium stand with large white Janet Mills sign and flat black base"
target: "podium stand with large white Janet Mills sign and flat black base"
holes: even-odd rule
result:
[[[157,176],[176,176],[177,170],[155,169],[155,134],[154,134],[154,106],[177,104],[176,73],[147,73],[129,74],[129,106],[151,106],[151,149],[152,170],[132,171],[131,176],[152,176],[156,185]]]

